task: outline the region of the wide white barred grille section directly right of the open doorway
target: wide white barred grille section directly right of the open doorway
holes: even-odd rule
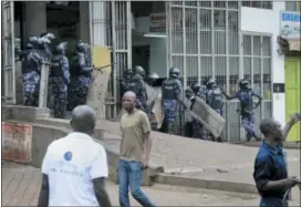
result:
[[[215,77],[232,91],[239,79],[239,2],[172,1],[167,3],[168,59],[181,70],[184,89]],[[235,105],[235,106],[232,106]],[[236,114],[237,103],[225,104],[224,116]],[[229,116],[228,132],[239,132],[239,116]],[[231,135],[230,137],[239,137]]]

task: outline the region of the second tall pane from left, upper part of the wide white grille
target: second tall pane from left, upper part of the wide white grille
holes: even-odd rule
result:
[[[186,9],[186,53],[197,54],[197,9]]]

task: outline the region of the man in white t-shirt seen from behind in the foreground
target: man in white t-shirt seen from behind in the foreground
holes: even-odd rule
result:
[[[111,207],[104,182],[108,175],[106,153],[91,135],[95,113],[87,105],[72,112],[73,132],[52,142],[42,164],[40,206]]]

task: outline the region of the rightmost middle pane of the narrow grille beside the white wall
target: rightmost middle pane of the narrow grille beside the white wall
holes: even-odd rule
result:
[[[263,99],[271,100],[271,59],[264,58],[263,66]]]

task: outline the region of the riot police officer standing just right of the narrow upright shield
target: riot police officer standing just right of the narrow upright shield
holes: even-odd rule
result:
[[[50,76],[52,79],[54,117],[64,118],[68,102],[68,84],[70,82],[69,60],[65,56],[66,42],[61,42],[51,60]]]

